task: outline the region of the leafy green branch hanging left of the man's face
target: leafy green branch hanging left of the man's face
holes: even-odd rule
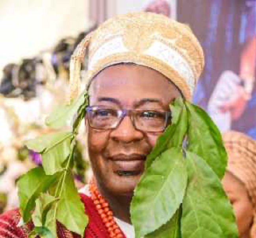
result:
[[[58,131],[26,143],[29,149],[41,153],[43,165],[18,181],[22,220],[27,223],[32,219],[35,225],[30,237],[56,237],[56,221],[83,236],[88,218],[74,184],[72,161],[87,105],[88,96],[83,93],[71,105],[59,107],[46,119],[48,126],[60,129],[69,126],[76,112],[72,131]]]

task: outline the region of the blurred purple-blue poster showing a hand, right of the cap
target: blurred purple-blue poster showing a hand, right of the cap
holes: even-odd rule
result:
[[[204,49],[194,102],[221,131],[256,139],[256,1],[178,0],[177,19],[191,27]]]

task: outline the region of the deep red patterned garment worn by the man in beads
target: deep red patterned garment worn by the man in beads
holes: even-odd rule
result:
[[[87,225],[84,237],[85,238],[109,238],[108,231],[102,222],[102,219],[98,215],[93,200],[80,194],[81,200],[85,206],[85,213],[89,217],[89,224]],[[20,220],[20,213],[18,209],[7,211],[0,215],[0,238],[28,238],[28,233],[33,228],[33,224],[30,223],[26,226],[17,227]],[[79,238],[77,234],[74,234],[60,223],[57,223],[58,238]],[[124,236],[124,234],[123,234]],[[125,237],[125,236],[124,236]]]

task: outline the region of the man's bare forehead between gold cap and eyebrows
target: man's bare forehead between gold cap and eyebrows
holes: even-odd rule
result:
[[[169,96],[178,91],[169,79],[151,68],[122,64],[110,66],[102,70],[92,81],[90,94],[143,94],[144,97],[163,95]]]

